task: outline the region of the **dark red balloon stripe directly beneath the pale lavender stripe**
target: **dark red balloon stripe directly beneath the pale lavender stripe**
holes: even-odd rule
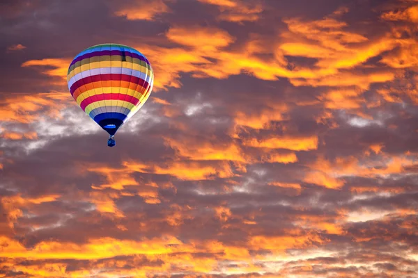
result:
[[[148,79],[149,80],[149,79]],[[147,89],[149,88],[149,83],[147,81],[145,81],[144,79],[138,78],[136,76],[132,76],[132,75],[127,75],[127,74],[97,74],[97,75],[93,75],[93,76],[86,76],[83,79],[79,79],[78,81],[76,81],[75,83],[73,83],[70,87],[70,92],[71,95],[74,94],[75,90],[77,90],[77,88],[82,87],[82,86],[86,86],[87,88],[87,84],[92,83],[92,82],[98,82],[98,81],[117,81],[116,83],[111,83],[111,87],[114,86],[118,86],[120,85],[120,81],[130,81],[131,83],[135,83],[138,84],[140,86],[142,86],[143,88]],[[87,88],[87,90],[91,90],[94,89],[93,86],[91,86],[91,88]]]

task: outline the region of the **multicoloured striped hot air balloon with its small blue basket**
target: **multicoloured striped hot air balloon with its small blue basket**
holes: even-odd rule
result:
[[[109,133],[132,117],[153,90],[154,72],[148,59],[123,44],[98,44],[75,56],[68,68],[68,89],[77,104]]]

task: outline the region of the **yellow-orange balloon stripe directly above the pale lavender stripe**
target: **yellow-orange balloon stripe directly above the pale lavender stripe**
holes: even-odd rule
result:
[[[119,57],[120,59],[118,60],[116,57]],[[128,69],[139,70],[146,73],[152,71],[150,65],[136,58],[122,61],[121,56],[111,56],[111,58],[107,56],[106,59],[101,60],[84,59],[81,64],[72,65],[68,69],[67,80],[71,79],[75,74],[86,70],[98,69],[99,67],[126,67]]]

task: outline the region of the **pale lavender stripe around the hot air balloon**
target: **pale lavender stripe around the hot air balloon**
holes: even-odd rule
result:
[[[146,72],[141,72],[139,70],[132,70],[132,68],[127,67],[100,67],[98,69],[93,70],[85,70],[84,72],[80,72],[78,74],[75,74],[75,76],[72,76],[72,78],[68,81],[68,88],[71,88],[71,86],[79,81],[80,79],[84,79],[88,76],[93,75],[102,75],[102,74],[126,74],[128,76],[136,76],[140,79],[144,79],[145,81],[148,81],[150,79],[150,76]]]

